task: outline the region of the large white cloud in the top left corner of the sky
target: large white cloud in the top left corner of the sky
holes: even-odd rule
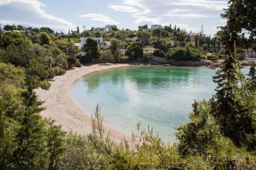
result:
[[[17,24],[28,24],[31,26],[74,27],[71,22],[65,19],[47,14],[41,9],[42,7],[45,7],[45,5],[37,0],[0,0],[0,19],[15,20]],[[10,10],[5,10],[8,11],[7,14],[1,8]]]

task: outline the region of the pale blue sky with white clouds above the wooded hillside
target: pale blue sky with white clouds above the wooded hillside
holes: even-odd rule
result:
[[[79,26],[137,30],[140,25],[160,24],[214,35],[226,20],[220,17],[227,0],[0,0],[0,23],[50,27],[68,32]]]

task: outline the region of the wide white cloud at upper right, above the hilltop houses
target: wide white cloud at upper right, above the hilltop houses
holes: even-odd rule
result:
[[[178,19],[219,17],[221,10],[227,7],[227,2],[224,0],[125,0],[124,4],[142,9],[141,12],[132,14],[137,18],[135,23],[159,22],[164,17]]]

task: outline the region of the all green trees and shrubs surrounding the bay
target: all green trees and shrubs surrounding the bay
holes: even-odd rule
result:
[[[131,42],[133,31],[114,30],[104,36],[109,49],[100,50],[93,39],[79,50],[74,42],[88,31],[54,33],[50,28],[5,26],[0,29],[0,168],[1,169],[254,169],[256,166],[255,66],[241,71],[239,48],[255,50],[253,3],[229,1],[222,15],[227,25],[217,37],[189,39],[180,28],[166,26],[150,31],[140,26],[141,42]],[[252,11],[247,13],[245,11]],[[244,16],[244,17],[240,17]],[[15,29],[23,33],[13,32]],[[250,36],[246,38],[242,31]],[[216,93],[208,101],[195,101],[190,122],[177,129],[178,143],[166,144],[153,130],[140,124],[132,134],[135,145],[124,138],[116,143],[105,132],[99,106],[92,116],[92,133],[64,132],[52,119],[39,115],[44,101],[34,89],[48,89],[48,79],[65,74],[69,67],[98,59],[126,62],[148,61],[143,46],[151,42],[155,55],[174,60],[200,60],[210,45],[222,47],[224,59],[213,80]],[[127,39],[130,38],[130,39]],[[121,42],[120,42],[121,41]],[[206,42],[206,43],[205,43]],[[212,43],[211,43],[212,42]],[[238,46],[238,47],[237,47]],[[124,48],[124,55],[119,48]],[[82,55],[80,52],[84,52]]]

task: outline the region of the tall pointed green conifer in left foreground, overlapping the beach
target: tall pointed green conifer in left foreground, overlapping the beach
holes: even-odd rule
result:
[[[15,136],[13,162],[18,169],[45,169],[47,166],[46,122],[39,115],[44,108],[40,107],[43,102],[37,100],[33,91],[38,87],[38,77],[34,74],[34,66],[30,64],[26,70],[26,90],[22,93],[24,108]]]

